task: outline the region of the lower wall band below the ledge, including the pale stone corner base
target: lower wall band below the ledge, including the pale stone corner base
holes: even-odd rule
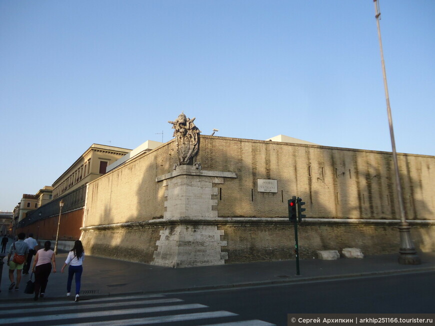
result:
[[[299,258],[313,259],[317,251],[331,248],[340,252],[343,248],[358,248],[364,255],[398,254],[399,222],[304,219],[298,226]],[[435,251],[435,221],[409,224],[416,250]],[[80,240],[87,255],[166,267],[295,258],[293,224],[286,218],[156,219],[81,230]],[[64,249],[72,246],[70,242]]]

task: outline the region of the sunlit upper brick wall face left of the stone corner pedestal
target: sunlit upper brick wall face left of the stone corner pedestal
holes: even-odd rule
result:
[[[155,177],[177,162],[173,141],[88,184],[85,226],[163,217],[164,187]]]

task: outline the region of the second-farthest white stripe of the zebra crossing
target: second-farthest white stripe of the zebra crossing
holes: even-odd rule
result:
[[[125,306],[127,308],[131,308],[132,305],[153,305],[153,304],[169,304],[172,302],[182,302],[181,299],[154,299],[154,300],[136,300],[136,301],[125,301],[125,302],[111,302],[111,303],[96,303],[93,302],[91,305],[82,304],[80,306],[77,305],[69,305],[66,307],[46,307],[43,309],[43,312],[55,312],[55,311],[68,311],[68,310],[81,310],[81,309],[104,309],[108,307],[122,307]],[[79,308],[78,308],[79,307]],[[26,314],[32,313],[32,308],[40,311],[40,308],[37,306],[33,306],[31,308],[24,309],[9,309],[7,311],[2,311],[2,314]]]

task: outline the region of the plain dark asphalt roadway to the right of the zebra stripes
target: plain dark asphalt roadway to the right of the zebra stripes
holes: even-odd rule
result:
[[[287,325],[287,314],[435,313],[435,272],[177,294],[242,318]]]

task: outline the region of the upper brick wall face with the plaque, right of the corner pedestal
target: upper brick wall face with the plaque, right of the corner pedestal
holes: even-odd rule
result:
[[[237,173],[219,186],[219,217],[284,217],[294,195],[307,217],[400,218],[390,153],[202,136],[197,161]],[[406,218],[435,219],[435,157],[398,154],[398,161]],[[278,192],[258,192],[257,179],[277,180]]]

